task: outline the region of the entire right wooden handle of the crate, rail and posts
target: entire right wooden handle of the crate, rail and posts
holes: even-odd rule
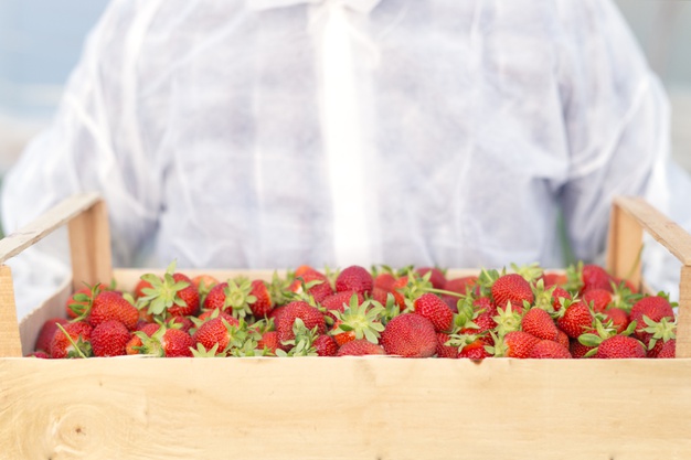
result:
[[[677,357],[691,357],[691,235],[640,197],[614,200],[607,240],[607,269],[616,277],[629,277],[641,284],[638,255],[644,231],[665,246],[679,261],[679,313],[677,320]]]

